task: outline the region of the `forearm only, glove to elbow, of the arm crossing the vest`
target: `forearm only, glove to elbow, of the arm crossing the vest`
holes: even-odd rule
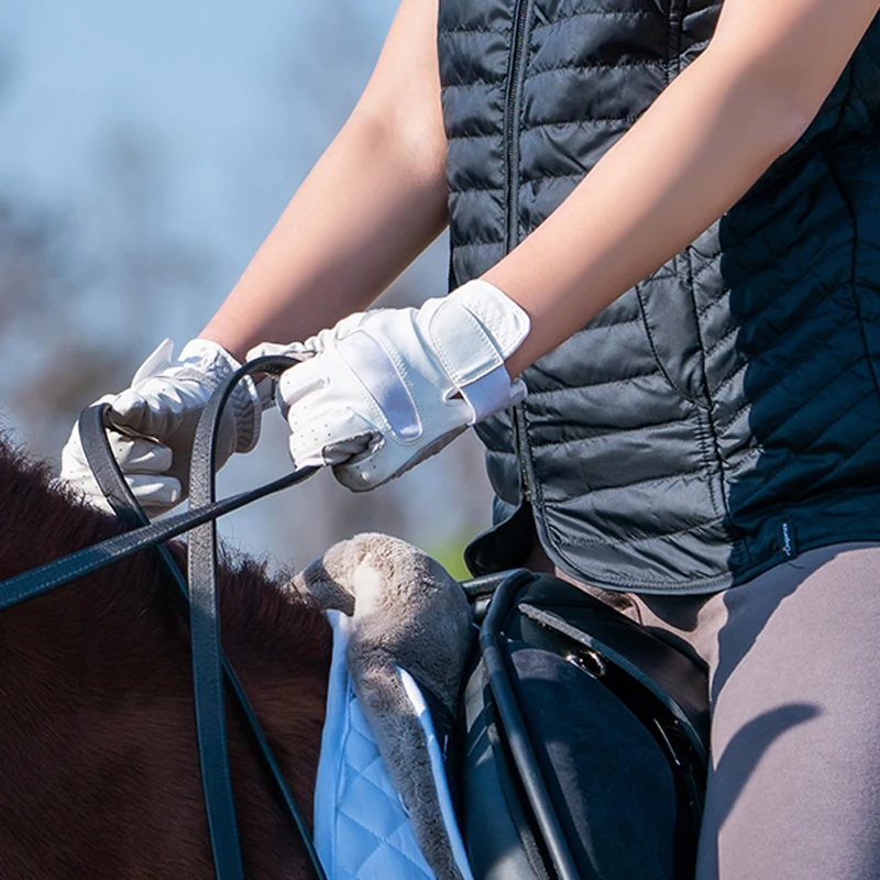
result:
[[[532,318],[518,374],[721,217],[798,134],[705,53],[544,223],[485,274]]]

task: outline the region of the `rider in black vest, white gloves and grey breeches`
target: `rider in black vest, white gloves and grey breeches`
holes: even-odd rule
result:
[[[266,339],[305,359],[294,461],[351,488],[477,425],[472,568],[554,568],[708,663],[700,880],[880,876],[878,6],[403,0],[220,310],[112,398],[152,513]],[[452,293],[359,311],[446,224]],[[76,431],[62,475],[94,496]]]

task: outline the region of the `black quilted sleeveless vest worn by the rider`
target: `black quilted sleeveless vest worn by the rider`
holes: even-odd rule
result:
[[[450,284],[530,233],[706,47],[712,0],[441,0]],[[880,20],[800,141],[479,426],[496,527],[591,583],[708,592],[880,539]]]

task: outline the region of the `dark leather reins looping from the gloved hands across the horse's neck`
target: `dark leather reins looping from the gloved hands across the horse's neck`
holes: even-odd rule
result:
[[[220,418],[235,385],[251,373],[278,374],[297,361],[258,358],[235,371],[213,394],[196,429],[190,464],[189,510],[151,522],[134,498],[110,449],[106,432],[107,404],[82,410],[79,432],[82,449],[108,503],[127,529],[92,547],[54,560],[29,572],[0,581],[0,610],[47,593],[154,547],[162,561],[173,604],[188,623],[193,657],[193,692],[205,809],[217,880],[244,880],[235,805],[232,795],[226,727],[226,694],[249,729],[268,783],[299,835],[315,877],[326,880],[318,854],[260,722],[235,671],[223,652],[217,602],[217,517],[257,498],[300,483],[317,468],[302,468],[255,490],[216,501],[215,448]],[[190,532],[187,543],[188,578],[164,542]],[[187,585],[188,582],[188,585]]]

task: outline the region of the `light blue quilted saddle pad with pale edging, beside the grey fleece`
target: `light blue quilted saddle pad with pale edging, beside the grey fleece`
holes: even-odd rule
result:
[[[333,628],[333,653],[315,787],[318,856],[328,880],[435,880],[352,686],[345,664],[352,620],[337,610],[327,616]],[[464,880],[472,880],[425,697],[411,675],[399,668],[397,672],[425,732],[457,867]]]

